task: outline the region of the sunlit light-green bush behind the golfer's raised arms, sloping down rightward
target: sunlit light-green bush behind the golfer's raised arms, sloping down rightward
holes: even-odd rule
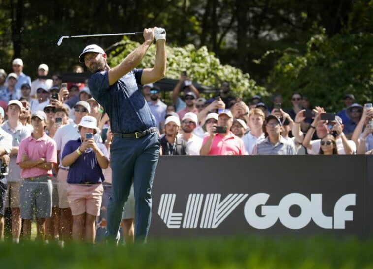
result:
[[[140,44],[124,37],[123,41],[109,55],[111,66],[118,65],[131,51]],[[149,48],[139,67],[153,67],[156,46]],[[196,49],[194,45],[173,47],[167,45],[166,77],[179,79],[186,70],[190,79],[206,86],[220,87],[222,81],[230,82],[230,87],[237,96],[247,97],[253,94],[268,95],[265,88],[258,86],[248,73],[230,65],[222,65],[214,53],[205,46]]]

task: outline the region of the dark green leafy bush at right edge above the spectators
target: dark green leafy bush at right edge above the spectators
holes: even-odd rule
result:
[[[272,93],[290,100],[293,92],[309,97],[311,104],[333,111],[352,93],[360,103],[372,100],[373,34],[336,34],[322,31],[306,44],[305,53],[285,52],[268,77]],[[289,103],[287,103],[289,105]]]

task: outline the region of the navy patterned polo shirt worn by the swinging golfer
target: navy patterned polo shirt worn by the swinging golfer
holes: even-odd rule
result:
[[[93,98],[105,109],[113,133],[135,133],[157,123],[139,89],[143,69],[133,69],[109,86],[108,71],[97,72],[88,80]]]

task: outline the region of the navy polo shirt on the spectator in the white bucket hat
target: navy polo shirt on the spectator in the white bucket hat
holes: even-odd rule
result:
[[[74,152],[82,144],[81,139],[70,140],[66,143],[61,159],[70,153]],[[109,158],[109,153],[102,143],[97,143],[98,148],[102,153]],[[89,152],[83,152],[82,155],[70,165],[69,172],[67,175],[67,183],[70,184],[83,184],[87,182],[99,183],[105,180],[102,174],[102,169],[98,164],[96,154],[93,150]]]

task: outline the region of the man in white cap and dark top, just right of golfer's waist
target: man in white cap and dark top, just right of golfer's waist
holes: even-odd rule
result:
[[[162,155],[189,155],[187,142],[177,137],[180,120],[169,116],[164,123],[164,136],[160,139]]]

